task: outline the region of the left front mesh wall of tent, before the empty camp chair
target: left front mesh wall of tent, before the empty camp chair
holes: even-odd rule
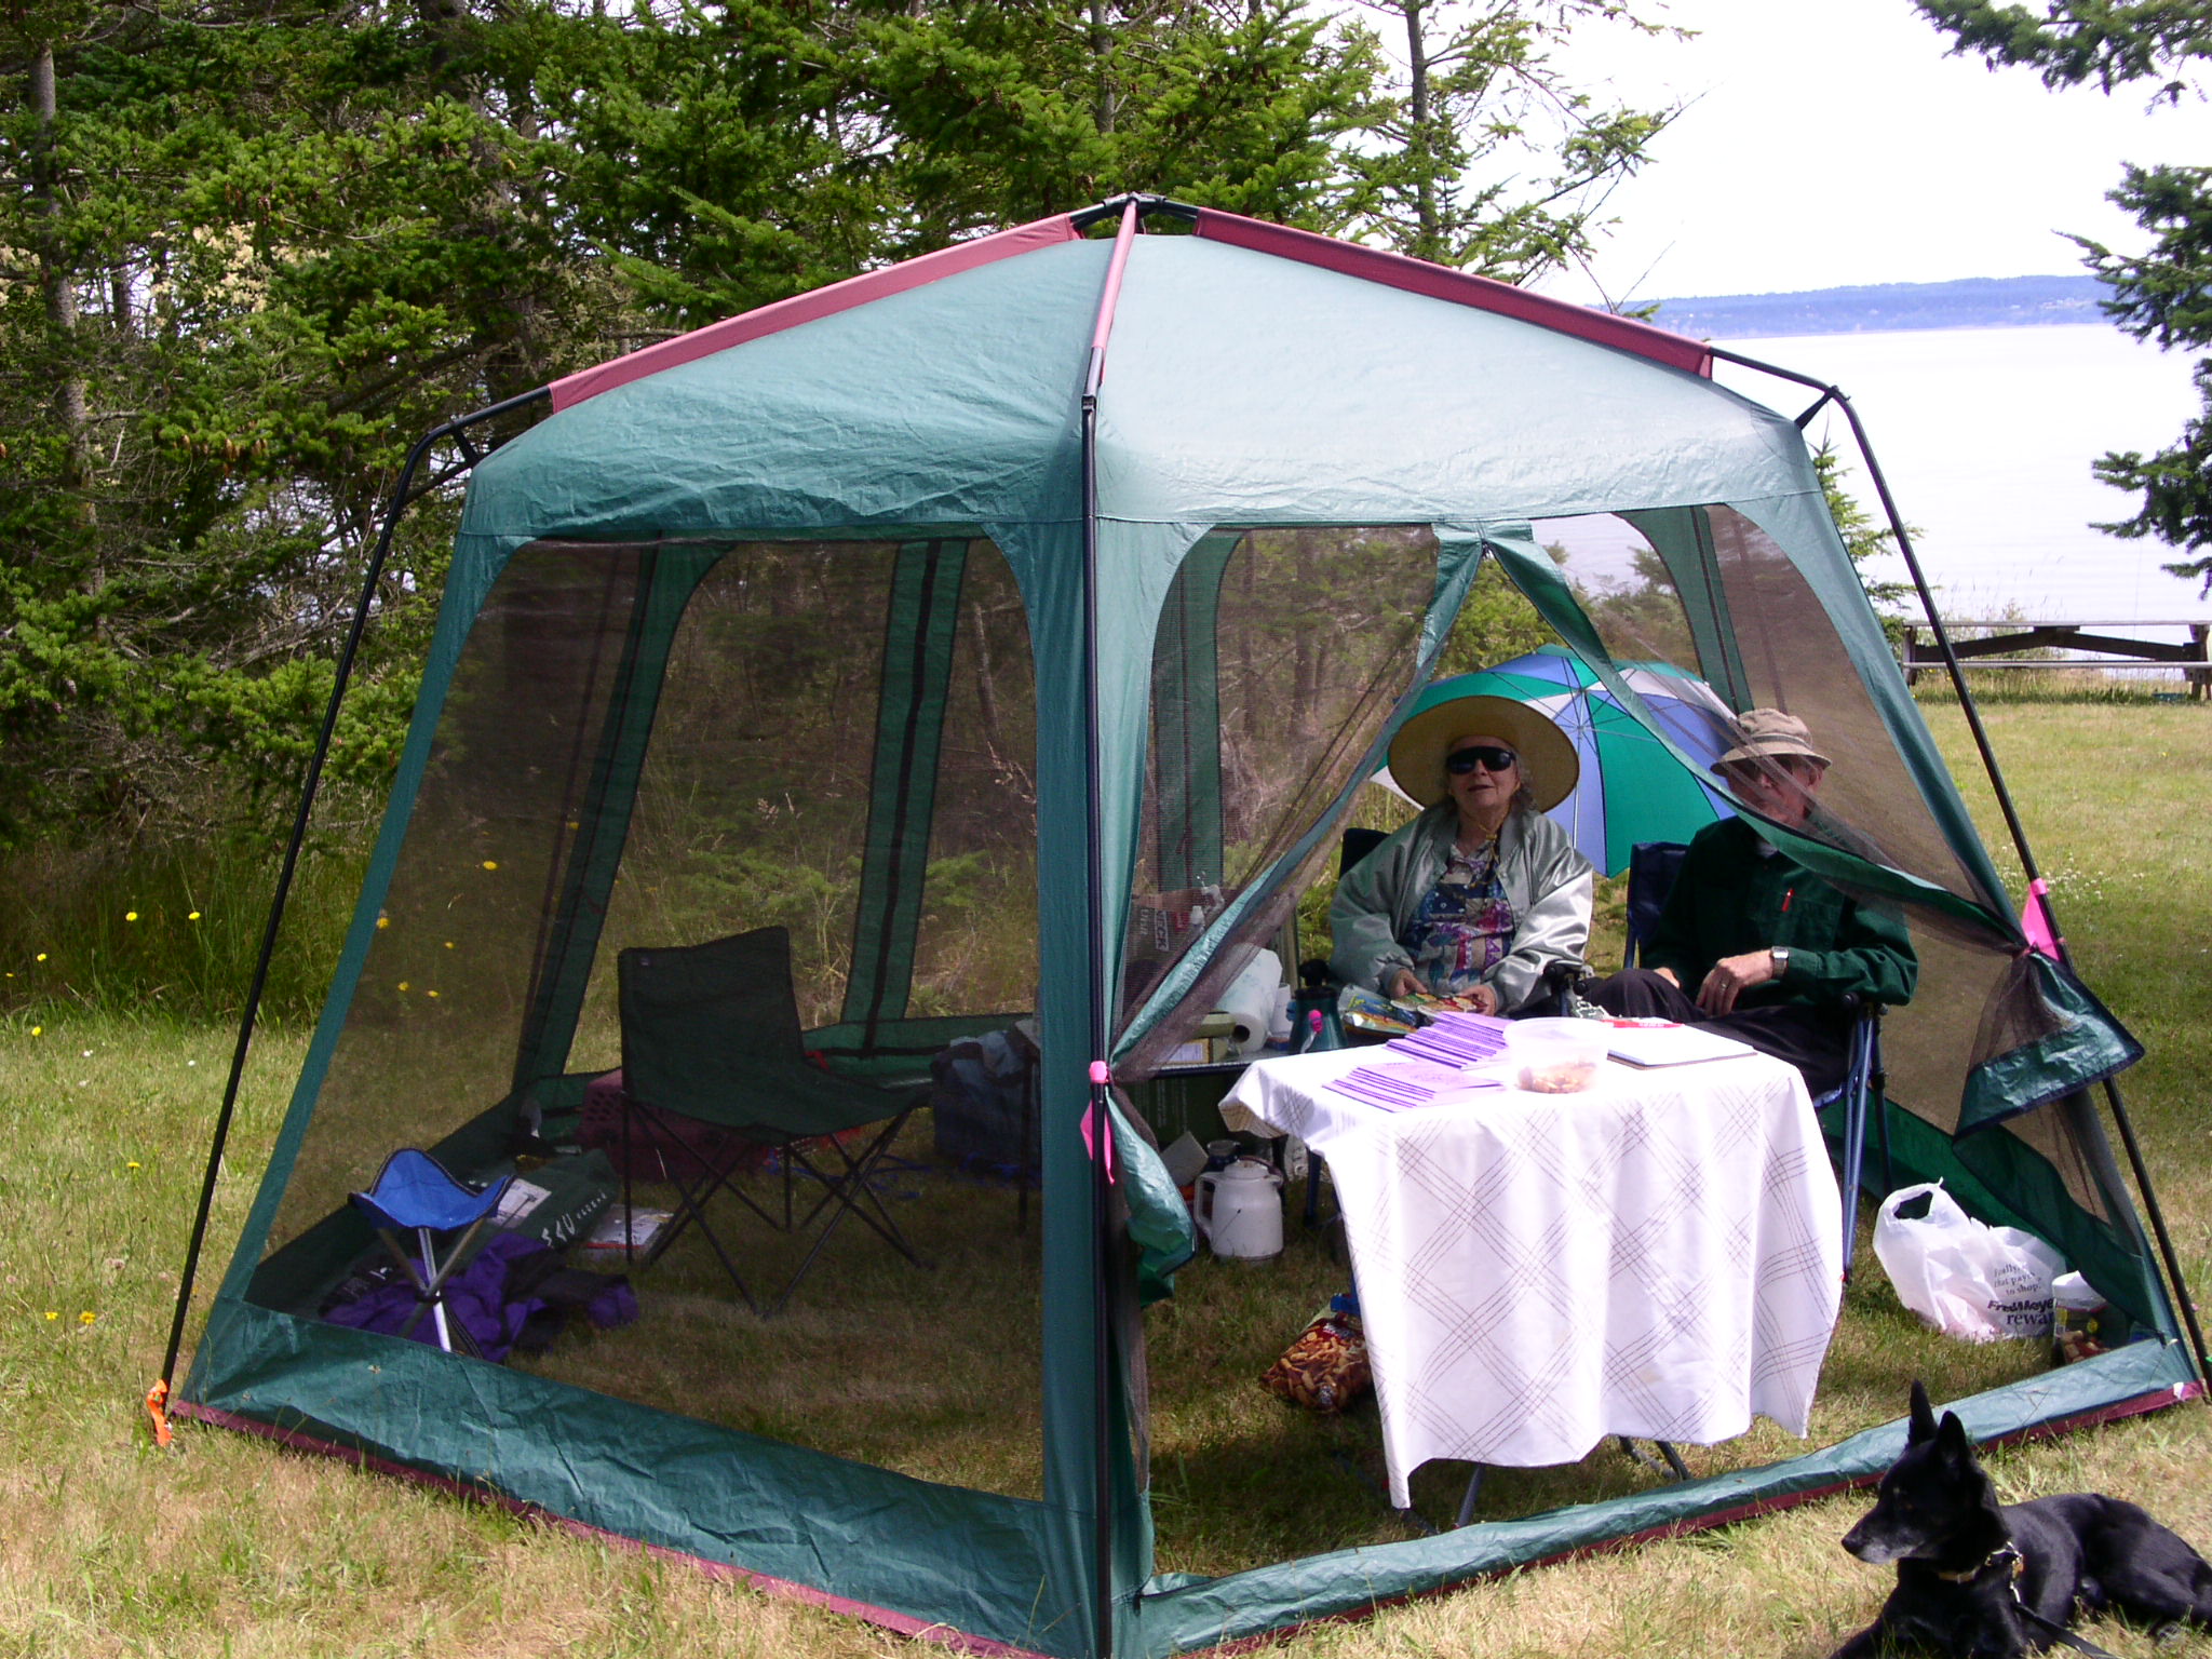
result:
[[[394,1148],[484,1177],[511,1166],[524,1108],[560,1150],[524,1155],[522,1179],[588,1170],[619,1206],[624,1146],[586,1084],[622,1064],[624,947],[790,929],[807,1044],[856,1075],[927,1086],[949,1042],[1011,1026],[1037,973],[1031,672],[989,542],[524,549],[458,666],[257,1301],[312,1312],[378,1256],[345,1194]],[[633,1270],[635,1325],[511,1363],[1040,1495],[1037,1343],[1013,1338],[1037,1325],[1029,1148],[993,1119],[940,1157],[931,1117],[876,1181],[927,1267],[847,1219],[763,1321],[695,1228]],[[657,1155],[633,1152],[633,1201],[672,1208]],[[741,1161],[776,1214],[781,1161]],[[801,1214],[814,1190],[801,1175]],[[763,1298],[812,1241],[728,1197],[710,1217]],[[925,1336],[978,1329],[995,1340]]]

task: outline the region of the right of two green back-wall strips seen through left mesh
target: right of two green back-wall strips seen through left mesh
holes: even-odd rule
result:
[[[914,936],[929,887],[929,825],[945,745],[945,688],[960,630],[967,542],[907,542],[891,566],[867,841],[852,918],[845,1022],[865,1033],[907,1013]]]

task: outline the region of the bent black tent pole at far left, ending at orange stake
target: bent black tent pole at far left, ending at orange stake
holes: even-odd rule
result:
[[[469,442],[469,427],[511,414],[513,409],[522,409],[546,396],[551,396],[551,389],[538,387],[535,392],[524,392],[518,398],[507,398],[504,403],[478,409],[476,414],[465,414],[458,420],[449,420],[425,434],[416,447],[407,451],[407,460],[400,465],[398,484],[394,484],[392,498],[385,504],[385,522],[376,533],[376,549],[369,553],[369,571],[361,582],[361,599],[354,604],[354,622],[345,633],[345,646],[338,650],[338,666],[330,681],[330,703],[323,708],[323,730],[314,741],[314,754],[307,757],[307,772],[299,785],[299,812],[292,818],[292,836],[285,841],[283,865],[276,872],[276,891],[270,896],[268,922],[261,929],[261,951],[254,958],[254,978],[246,989],[246,1013],[239,1018],[239,1042],[230,1051],[230,1077],[223,1082],[223,1106],[215,1117],[215,1137],[208,1144],[208,1168],[199,1181],[199,1210],[192,1214],[192,1237],[184,1250],[184,1270],[177,1274],[177,1310],[168,1323],[168,1347],[161,1352],[161,1380],[155,1385],[155,1394],[148,1396],[148,1402],[155,1407],[164,1407],[168,1402],[170,1389],[177,1380],[177,1354],[184,1347],[184,1323],[192,1307],[192,1281],[199,1274],[199,1252],[206,1245],[208,1217],[215,1210],[215,1181],[223,1170],[223,1146],[230,1141],[230,1124],[237,1117],[239,1079],[246,1075],[246,1053],[252,1048],[254,1018],[261,1011],[261,993],[268,989],[270,962],[276,956],[276,933],[283,927],[285,898],[292,891],[292,876],[299,872],[301,847],[307,843],[307,821],[314,812],[314,794],[323,781],[323,763],[330,759],[330,739],[338,730],[338,706],[345,701],[345,688],[354,675],[354,659],[361,655],[361,637],[367,633],[369,613],[376,606],[376,586],[383,582],[385,560],[392,555],[392,535],[398,531],[400,513],[405,513],[409,502],[414,502],[420,493],[414,491],[416,469],[438,442],[458,438],[462,460],[422,484],[422,491],[436,489],[438,484],[460,476],[484,453]]]

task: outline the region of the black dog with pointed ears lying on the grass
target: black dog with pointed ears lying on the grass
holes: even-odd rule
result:
[[[2135,1504],[2097,1493],[2000,1504],[1955,1411],[1936,1422],[1913,1383],[1905,1455],[1843,1546],[1898,1564],[1882,1615],[1836,1650],[1885,1646],[2017,1659],[2053,1641],[2075,1608],[2117,1608],[2161,1628],[2212,1624],[2212,1566]]]

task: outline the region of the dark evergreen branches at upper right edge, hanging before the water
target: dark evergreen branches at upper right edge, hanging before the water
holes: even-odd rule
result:
[[[2152,82],[2152,100],[2179,104],[2201,91],[2192,75],[2212,60],[2212,7],[2203,0],[1913,0],[1922,15],[1993,64],[2042,71],[2044,86],[2095,84],[2099,91]],[[2124,170],[2108,197],[2150,232],[2143,254],[2117,254],[2075,237],[2086,265],[2112,290],[2104,310],[2139,341],[2161,349],[2212,347],[2212,168],[2157,166]],[[2115,451],[2097,478],[2141,491],[2132,518],[2097,529],[2154,535],[2192,557],[2166,566],[2201,577],[2212,593],[2212,356],[2194,372],[2201,411],[2181,438],[2152,456]]]

